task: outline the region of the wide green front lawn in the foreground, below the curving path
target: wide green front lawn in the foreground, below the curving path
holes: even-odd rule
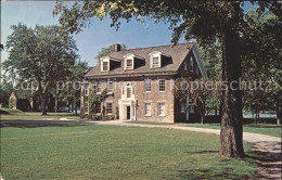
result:
[[[4,179],[246,179],[255,158],[218,154],[219,137],[158,128],[56,124],[1,128]],[[245,144],[251,153],[251,144]]]

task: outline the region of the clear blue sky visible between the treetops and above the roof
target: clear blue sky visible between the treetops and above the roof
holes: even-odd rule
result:
[[[59,25],[59,16],[53,16],[55,1],[2,1],[1,2],[1,43],[5,44],[7,37],[12,33],[10,27],[18,23],[28,27],[35,25]],[[145,21],[145,25],[132,21],[123,23],[116,31],[111,27],[111,20],[92,18],[84,31],[74,36],[78,54],[90,66],[97,64],[95,55],[102,48],[113,43],[125,43],[128,49],[170,44],[171,31],[164,23],[154,24]],[[181,39],[179,42],[185,42]],[[1,52],[1,61],[8,59],[7,49]]]

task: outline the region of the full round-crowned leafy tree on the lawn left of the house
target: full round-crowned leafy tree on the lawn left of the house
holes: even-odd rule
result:
[[[60,72],[63,76],[77,59],[77,48],[70,36],[62,36],[59,26],[13,25],[8,37],[10,50],[3,68],[21,79],[37,81],[41,99],[42,115],[47,114],[47,95]]]

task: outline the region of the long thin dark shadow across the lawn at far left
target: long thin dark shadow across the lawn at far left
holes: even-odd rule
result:
[[[41,128],[41,127],[75,127],[75,126],[87,126],[79,123],[70,121],[1,121],[1,128],[14,127],[14,128]]]

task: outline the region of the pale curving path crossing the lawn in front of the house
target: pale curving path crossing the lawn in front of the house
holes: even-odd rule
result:
[[[183,127],[179,125],[146,125],[146,124],[132,124],[132,123],[123,123],[119,120],[111,121],[75,121],[68,119],[62,120],[9,120],[1,121],[1,126],[10,124],[10,126],[21,126],[20,124],[47,124],[42,126],[48,126],[48,124],[60,126],[60,124],[72,123],[72,124],[81,124],[81,125],[113,125],[113,126],[126,126],[126,127],[144,127],[144,128],[167,128],[167,129],[177,129],[177,130],[189,130],[194,132],[204,132],[220,134],[220,130],[217,129],[206,129],[206,128],[193,128],[193,127]],[[38,126],[34,125],[34,126]],[[256,144],[257,149],[255,150],[259,154],[259,165],[258,171],[256,172],[254,179],[271,179],[271,180],[281,180],[281,138],[275,138],[266,134],[244,132],[243,140],[245,142]]]

